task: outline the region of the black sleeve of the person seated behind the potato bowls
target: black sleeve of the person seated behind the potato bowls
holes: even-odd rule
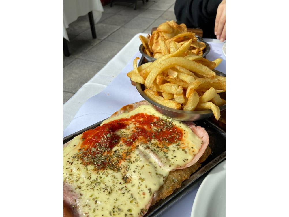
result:
[[[185,23],[188,28],[201,28],[204,38],[214,35],[218,5],[222,0],[176,0],[175,15],[177,23]]]

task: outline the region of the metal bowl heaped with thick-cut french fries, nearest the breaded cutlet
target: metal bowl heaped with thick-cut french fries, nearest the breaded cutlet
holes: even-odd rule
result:
[[[195,121],[212,115],[218,120],[226,109],[226,100],[219,93],[226,92],[226,75],[216,68],[221,58],[210,61],[203,56],[189,54],[192,39],[171,54],[137,67],[127,76],[136,82],[140,95],[156,110],[181,121]]]

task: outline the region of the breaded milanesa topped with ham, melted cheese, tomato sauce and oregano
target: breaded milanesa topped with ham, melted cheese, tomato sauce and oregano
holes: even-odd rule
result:
[[[146,101],[124,106],[63,145],[63,216],[144,216],[210,155],[193,122]]]

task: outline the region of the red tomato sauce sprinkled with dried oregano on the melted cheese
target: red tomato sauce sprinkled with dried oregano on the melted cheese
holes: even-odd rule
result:
[[[116,134],[117,130],[128,128],[129,124],[133,124],[133,127],[130,125],[129,137],[120,137]],[[169,146],[180,141],[182,136],[183,130],[171,122],[146,113],[138,113],[84,132],[79,149],[82,152],[80,159],[84,165],[94,164],[98,169],[111,167],[113,163],[110,159],[111,150],[120,141],[133,149],[134,143],[138,140],[149,143],[152,139],[156,139],[162,146]]]

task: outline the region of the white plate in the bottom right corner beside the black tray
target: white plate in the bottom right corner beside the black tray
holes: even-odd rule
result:
[[[204,179],[194,199],[191,217],[226,216],[226,160]]]

